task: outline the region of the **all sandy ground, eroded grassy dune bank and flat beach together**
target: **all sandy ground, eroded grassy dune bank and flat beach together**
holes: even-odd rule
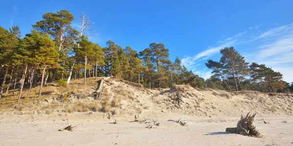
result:
[[[228,92],[183,85],[149,90],[110,79],[105,81],[101,99],[94,100],[86,95],[95,91],[96,81],[92,79],[86,86],[70,85],[68,101],[58,98],[56,89],[49,98],[0,108],[0,146],[293,145],[293,94]],[[179,105],[176,92],[183,97]],[[224,132],[227,127],[236,127],[240,115],[249,111],[257,113],[254,126],[264,138]],[[161,126],[148,129],[147,124],[131,122],[135,114],[157,119]],[[167,121],[180,117],[191,121],[185,127]],[[263,124],[262,118],[271,124]],[[58,131],[68,126],[67,119],[69,125],[78,128]],[[114,119],[119,124],[109,124]]]

